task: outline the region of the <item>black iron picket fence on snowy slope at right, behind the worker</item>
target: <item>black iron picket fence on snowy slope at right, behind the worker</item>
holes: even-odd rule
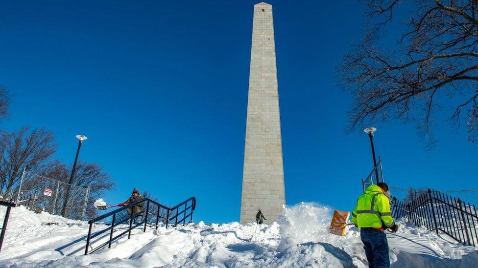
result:
[[[478,246],[478,214],[475,205],[439,191],[418,192],[411,202],[391,199],[394,218],[404,217],[416,226],[449,235],[459,243]]]

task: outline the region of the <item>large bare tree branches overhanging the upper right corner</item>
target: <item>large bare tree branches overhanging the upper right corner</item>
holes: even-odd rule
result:
[[[354,96],[348,130],[411,120],[433,144],[433,126],[444,116],[457,125],[464,119],[469,141],[478,144],[477,0],[364,2],[368,30],[339,67]],[[405,7],[411,10],[408,29],[396,36],[399,49],[393,49],[383,29]]]

